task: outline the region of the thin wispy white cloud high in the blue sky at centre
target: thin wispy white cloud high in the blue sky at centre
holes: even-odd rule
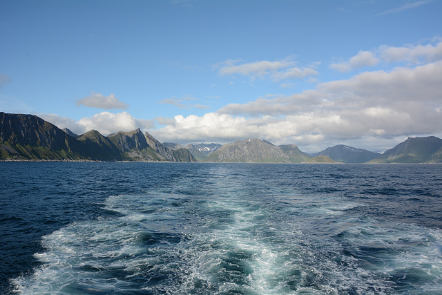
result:
[[[318,72],[312,67],[298,68],[296,62],[291,58],[279,61],[253,61],[244,64],[238,64],[240,60],[227,60],[221,64],[219,75],[245,75],[251,79],[271,77],[271,79],[280,81],[281,79],[301,79],[312,75],[318,75]]]

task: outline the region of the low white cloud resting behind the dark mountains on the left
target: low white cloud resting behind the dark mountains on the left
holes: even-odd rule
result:
[[[154,126],[152,120],[136,119],[126,111],[122,113],[102,112],[92,117],[84,117],[78,121],[55,114],[39,114],[44,120],[54,124],[60,129],[65,127],[77,134],[83,134],[90,130],[97,130],[103,135],[118,131],[133,131],[135,129],[147,130]]]

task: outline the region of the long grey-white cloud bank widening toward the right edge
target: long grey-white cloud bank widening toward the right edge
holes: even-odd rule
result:
[[[177,115],[152,133],[163,141],[259,137],[300,146],[365,140],[369,146],[374,138],[441,133],[441,85],[442,61],[376,70],[290,96],[228,104],[203,116]]]

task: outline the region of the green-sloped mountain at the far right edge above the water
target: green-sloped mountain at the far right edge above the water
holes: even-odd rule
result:
[[[372,163],[441,163],[442,140],[438,137],[408,137],[385,151]]]

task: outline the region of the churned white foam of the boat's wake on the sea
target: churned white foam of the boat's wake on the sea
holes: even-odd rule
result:
[[[298,205],[276,208],[240,196],[186,202],[162,193],[112,196],[106,209],[121,215],[75,222],[45,236],[45,252],[35,254],[44,265],[15,285],[23,294],[131,288],[169,294],[195,289],[388,294],[395,287],[391,276],[417,269],[427,281],[416,290],[442,291],[440,231],[342,213],[321,225],[327,210],[342,212],[359,204],[305,198]],[[321,236],[314,229],[318,226],[338,232]],[[357,256],[370,247],[372,252]]]

